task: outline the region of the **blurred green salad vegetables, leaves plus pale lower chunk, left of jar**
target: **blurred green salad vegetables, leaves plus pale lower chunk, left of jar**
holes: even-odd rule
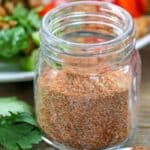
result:
[[[0,58],[7,62],[8,59],[17,56],[21,60],[21,69],[32,71],[35,64],[33,51],[40,42],[38,30],[41,18],[35,10],[28,10],[22,4],[18,4],[12,15],[0,17],[0,21],[16,22],[14,27],[0,30]],[[26,56],[25,52],[28,49],[31,50]]]

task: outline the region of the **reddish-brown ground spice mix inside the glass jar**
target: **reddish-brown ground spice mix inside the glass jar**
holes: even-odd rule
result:
[[[94,150],[120,144],[130,130],[129,73],[88,75],[46,69],[38,79],[37,120],[51,140]]]

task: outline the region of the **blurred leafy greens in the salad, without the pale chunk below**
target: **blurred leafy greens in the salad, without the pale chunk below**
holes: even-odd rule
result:
[[[0,17],[1,21],[15,21],[17,24],[11,29],[0,31],[0,57],[12,58],[27,49],[29,40],[32,40],[32,33],[38,31],[41,25],[41,18],[38,14],[29,11],[22,4],[18,4],[11,16]],[[37,45],[38,46],[38,45]]]

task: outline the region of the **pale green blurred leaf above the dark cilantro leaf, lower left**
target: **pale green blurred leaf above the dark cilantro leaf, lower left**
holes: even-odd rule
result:
[[[16,97],[0,98],[0,116],[10,116],[10,112],[27,112],[31,114],[31,107]]]

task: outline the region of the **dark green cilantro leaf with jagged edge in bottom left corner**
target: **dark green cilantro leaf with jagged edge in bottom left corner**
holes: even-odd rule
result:
[[[7,150],[30,149],[41,141],[41,132],[26,123],[0,125],[0,145]]]

